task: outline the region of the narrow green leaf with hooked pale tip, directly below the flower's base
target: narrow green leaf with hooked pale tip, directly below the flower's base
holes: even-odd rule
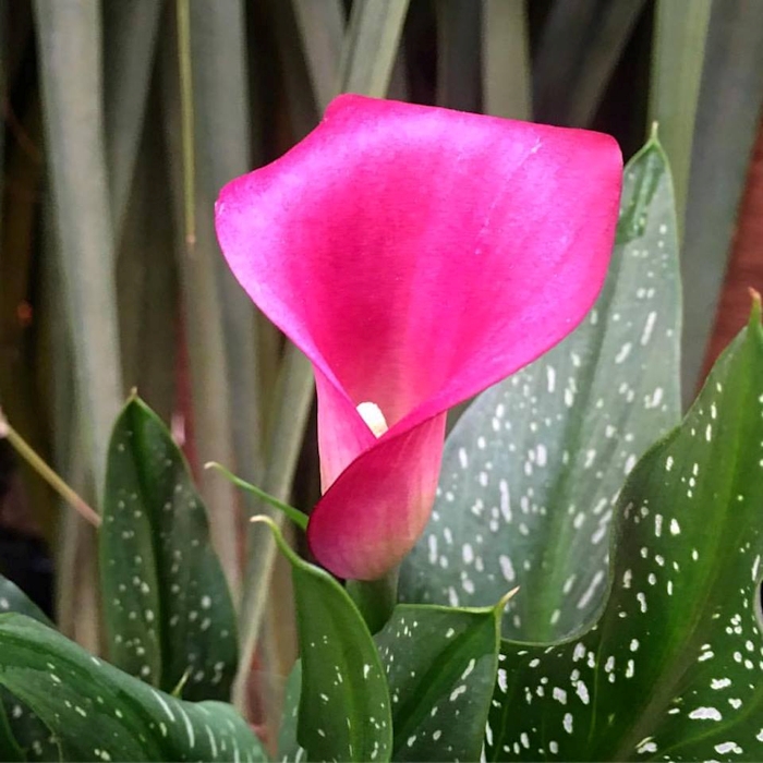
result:
[[[262,521],[291,564],[302,657],[300,746],[308,760],[388,761],[389,691],[358,607],[328,572],[294,554],[270,519]]]

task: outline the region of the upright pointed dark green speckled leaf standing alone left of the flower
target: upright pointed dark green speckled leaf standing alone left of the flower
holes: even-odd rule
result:
[[[235,619],[206,512],[170,433],[140,399],[117,419],[99,534],[112,661],[165,691],[228,699]]]

